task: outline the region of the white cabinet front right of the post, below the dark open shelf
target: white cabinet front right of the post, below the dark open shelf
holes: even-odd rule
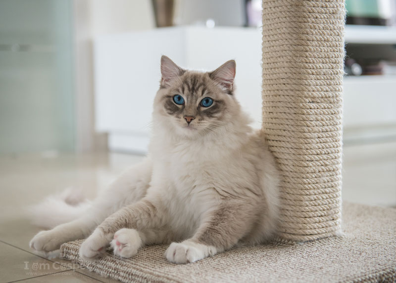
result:
[[[396,141],[396,76],[344,79],[344,145]]]

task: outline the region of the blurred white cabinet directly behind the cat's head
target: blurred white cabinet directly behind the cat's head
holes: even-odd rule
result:
[[[96,130],[109,148],[146,152],[152,101],[159,87],[160,57],[195,70],[237,62],[236,95],[261,124],[261,32],[255,28],[176,27],[95,40]]]

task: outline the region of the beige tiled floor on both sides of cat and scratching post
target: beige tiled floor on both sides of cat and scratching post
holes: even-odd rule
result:
[[[30,224],[29,204],[74,186],[89,198],[139,156],[122,154],[31,155],[0,158],[0,282],[114,282],[69,261],[35,255],[29,240],[39,231]],[[343,198],[396,205],[396,144],[344,149]]]

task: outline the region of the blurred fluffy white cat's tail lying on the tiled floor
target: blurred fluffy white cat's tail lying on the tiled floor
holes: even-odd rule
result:
[[[28,217],[38,227],[51,229],[59,224],[77,219],[91,207],[80,191],[68,188],[57,195],[28,207]]]

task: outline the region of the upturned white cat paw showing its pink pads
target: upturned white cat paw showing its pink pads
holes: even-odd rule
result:
[[[114,239],[110,243],[114,254],[129,258],[134,256],[142,246],[142,239],[135,229],[123,228],[114,234]]]

